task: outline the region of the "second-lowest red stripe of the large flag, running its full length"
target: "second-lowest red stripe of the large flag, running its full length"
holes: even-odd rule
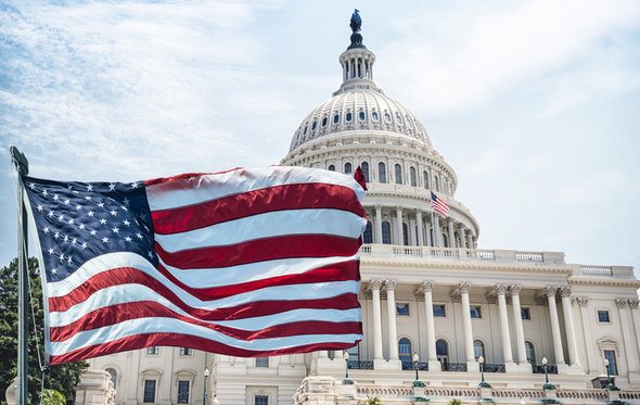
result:
[[[92,311],[69,325],[64,327],[52,327],[50,329],[50,337],[52,342],[63,342],[85,330],[93,330],[130,319],[155,317],[178,319],[185,324],[201,326],[245,341],[302,334],[321,334],[328,333],[328,331],[331,331],[331,334],[362,333],[360,327],[361,324],[359,321],[332,322],[300,320],[290,324],[274,325],[260,330],[244,330],[193,319],[178,314],[157,302],[143,301],[112,305]]]

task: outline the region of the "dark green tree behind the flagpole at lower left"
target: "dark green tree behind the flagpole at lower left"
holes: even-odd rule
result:
[[[30,302],[34,305],[36,329],[29,309],[29,370],[28,390],[31,404],[40,401],[42,372],[38,364],[38,347],[40,358],[44,359],[44,321],[42,308],[42,284],[40,269],[35,258],[29,258]],[[87,368],[87,363],[76,362],[59,366],[50,366],[44,371],[44,388],[62,393],[67,403],[74,401],[74,390],[78,384],[80,374]],[[0,393],[17,375],[17,260],[0,269]],[[48,393],[49,400],[56,401],[55,394]],[[2,397],[4,395],[1,395]],[[50,402],[56,404],[55,402]]]

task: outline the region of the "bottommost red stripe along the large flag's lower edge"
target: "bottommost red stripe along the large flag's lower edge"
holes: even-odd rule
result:
[[[188,334],[174,333],[153,333],[153,334],[137,334],[133,337],[121,338],[111,341],[108,343],[97,344],[84,349],[78,349],[65,354],[53,355],[49,359],[49,364],[56,365],[67,362],[77,362],[85,358],[92,358],[104,356],[107,354],[125,352],[137,349],[144,349],[150,346],[175,346],[175,347],[191,347],[202,350],[210,353],[219,353],[229,356],[238,357],[263,357],[263,356],[278,356],[283,354],[308,353],[320,350],[345,350],[358,344],[360,340],[354,343],[338,343],[325,342],[305,344],[293,347],[282,347],[272,351],[248,351],[244,349],[228,346],[220,342],[203,339]]]

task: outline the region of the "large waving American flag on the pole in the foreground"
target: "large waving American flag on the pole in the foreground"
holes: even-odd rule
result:
[[[251,357],[362,339],[364,191],[349,176],[274,166],[23,181],[50,364],[152,345]]]

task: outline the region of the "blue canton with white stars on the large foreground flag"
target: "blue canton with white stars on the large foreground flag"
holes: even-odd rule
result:
[[[144,183],[60,182],[23,177],[47,281],[60,281],[93,257],[133,252],[157,266]]]

